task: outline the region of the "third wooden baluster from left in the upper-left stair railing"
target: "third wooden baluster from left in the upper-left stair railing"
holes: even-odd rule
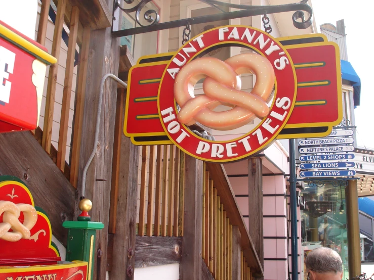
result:
[[[76,48],[76,35],[78,32],[78,22],[79,22],[79,9],[77,7],[73,7],[71,10],[69,43],[67,47],[65,80],[64,80],[64,89],[63,89],[62,105],[61,105],[60,132],[59,132],[59,137],[58,137],[58,148],[57,148],[57,167],[60,168],[62,172],[64,172],[64,168],[65,168],[67,128],[69,125],[70,99],[71,99],[71,88],[73,84],[74,57],[75,57],[75,48]]]

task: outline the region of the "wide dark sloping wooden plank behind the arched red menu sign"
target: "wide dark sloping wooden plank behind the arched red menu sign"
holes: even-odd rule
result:
[[[29,131],[0,134],[0,174],[22,179],[36,206],[48,214],[52,234],[66,246],[65,220],[74,219],[75,190]]]

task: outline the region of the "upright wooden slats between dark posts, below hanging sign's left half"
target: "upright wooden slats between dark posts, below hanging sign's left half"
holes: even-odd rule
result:
[[[183,166],[174,145],[142,147],[138,236],[183,235]]]

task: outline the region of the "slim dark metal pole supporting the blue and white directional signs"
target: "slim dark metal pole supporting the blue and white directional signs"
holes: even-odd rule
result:
[[[295,139],[289,139],[289,207],[291,213],[291,271],[292,280],[298,279],[298,223],[296,198]]]

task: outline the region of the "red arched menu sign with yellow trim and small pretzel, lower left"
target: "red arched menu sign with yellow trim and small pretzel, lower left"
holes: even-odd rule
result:
[[[0,280],[87,279],[87,262],[60,262],[48,216],[12,176],[0,176],[0,248]]]

